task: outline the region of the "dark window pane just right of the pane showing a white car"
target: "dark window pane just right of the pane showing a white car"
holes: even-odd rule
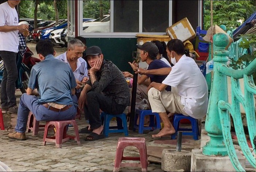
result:
[[[114,1],[114,32],[139,32],[139,1]]]

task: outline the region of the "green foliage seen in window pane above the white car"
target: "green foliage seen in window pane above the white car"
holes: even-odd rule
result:
[[[103,15],[109,14],[110,1],[102,0]],[[83,18],[99,18],[99,0],[83,0]]]

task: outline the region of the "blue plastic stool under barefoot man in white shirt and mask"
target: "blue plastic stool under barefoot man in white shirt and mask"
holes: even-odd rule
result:
[[[190,120],[192,128],[180,128],[181,119]],[[182,135],[193,136],[194,140],[198,140],[199,128],[198,128],[197,119],[192,118],[190,116],[184,116],[182,114],[175,114],[173,119],[173,127],[176,130],[176,132],[172,135],[172,139],[176,138],[178,131],[192,131],[192,132],[182,132]]]

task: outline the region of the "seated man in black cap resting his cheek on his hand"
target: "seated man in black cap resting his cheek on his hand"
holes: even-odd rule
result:
[[[80,94],[78,106],[85,110],[90,126],[79,132],[90,133],[85,140],[91,141],[104,138],[100,109],[108,114],[121,114],[130,105],[130,92],[122,72],[103,59],[98,46],[86,49],[86,59],[91,66],[90,78]]]

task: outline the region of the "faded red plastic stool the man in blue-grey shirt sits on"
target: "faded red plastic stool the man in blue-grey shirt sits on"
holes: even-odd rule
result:
[[[75,129],[76,136],[69,136],[67,135],[67,129],[66,126],[68,124],[72,124]],[[48,128],[50,125],[53,125],[56,129],[56,136],[54,137],[47,137],[48,135]],[[45,124],[45,133],[44,133],[44,141],[43,145],[46,144],[46,142],[54,142],[56,148],[61,148],[61,145],[63,142],[68,141],[69,139],[75,139],[77,141],[77,144],[80,145],[80,138],[78,133],[78,127],[76,124],[76,120],[66,120],[66,121],[47,121]]]

